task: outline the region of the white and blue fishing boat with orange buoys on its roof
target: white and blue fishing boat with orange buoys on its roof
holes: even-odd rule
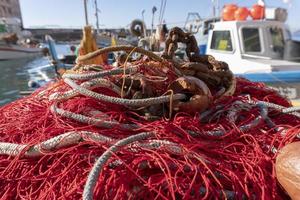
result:
[[[235,19],[232,15],[238,12],[240,18]],[[231,16],[224,19],[224,13]],[[282,8],[254,5],[249,11],[237,6],[226,10],[225,6],[221,18],[198,19],[193,26],[186,22],[186,27],[193,28],[190,32],[195,34],[202,54],[228,63],[237,76],[264,82],[298,104],[300,43],[292,40],[286,19],[287,11]]]

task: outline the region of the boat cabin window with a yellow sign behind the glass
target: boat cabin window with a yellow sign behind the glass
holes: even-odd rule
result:
[[[230,31],[214,31],[210,48],[219,51],[232,51]]]

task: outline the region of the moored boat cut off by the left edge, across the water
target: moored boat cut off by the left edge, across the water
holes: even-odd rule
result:
[[[0,61],[32,59],[42,55],[42,48],[33,42],[31,33],[21,30],[17,18],[0,18]]]

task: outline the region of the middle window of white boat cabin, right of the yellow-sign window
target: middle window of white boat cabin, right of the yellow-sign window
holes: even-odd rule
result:
[[[243,28],[242,34],[245,52],[261,52],[258,28]]]

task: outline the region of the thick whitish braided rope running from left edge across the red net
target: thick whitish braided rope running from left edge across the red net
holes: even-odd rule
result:
[[[61,135],[50,138],[44,142],[35,145],[16,144],[8,142],[0,142],[0,155],[24,157],[40,157],[47,152],[53,152],[65,147],[77,145],[84,141],[91,141],[97,144],[112,145],[117,139],[107,137],[105,135],[90,132],[90,131],[70,131]],[[171,154],[182,155],[184,151],[180,145],[167,140],[147,140],[145,142],[138,142],[130,146],[129,150],[136,151],[137,148],[158,150],[164,148]]]

